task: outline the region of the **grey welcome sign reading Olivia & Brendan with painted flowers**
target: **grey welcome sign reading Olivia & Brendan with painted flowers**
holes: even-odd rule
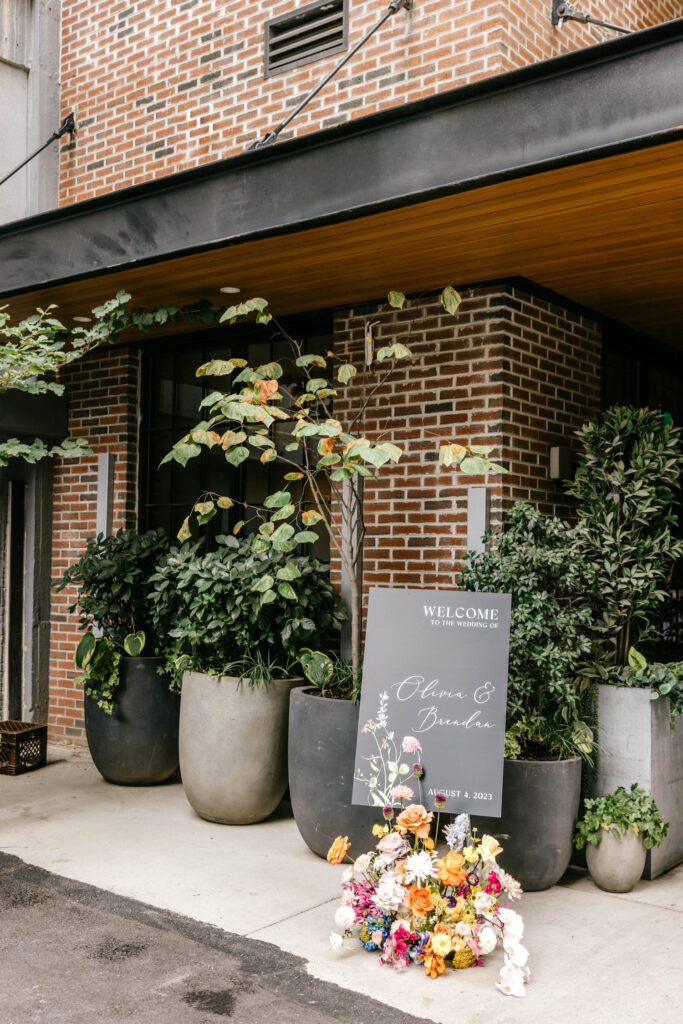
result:
[[[371,590],[354,804],[500,816],[509,642],[509,594]]]

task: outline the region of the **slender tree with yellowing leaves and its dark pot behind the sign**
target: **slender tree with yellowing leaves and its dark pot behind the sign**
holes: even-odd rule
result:
[[[460,296],[449,287],[442,291],[440,301],[447,312],[455,313]],[[390,307],[400,309],[404,303],[402,293],[389,293]],[[230,307],[222,319],[236,323],[252,314],[264,325],[271,319],[266,301],[259,298]],[[345,397],[351,382],[368,367],[361,364],[359,368],[333,352],[306,353],[280,327],[279,332],[291,350],[286,360],[287,375],[285,360],[249,367],[240,358],[213,359],[199,368],[200,376],[233,377],[232,387],[215,391],[205,399],[207,419],[182,437],[166,458],[185,465],[203,447],[209,447],[220,452],[234,466],[254,451],[259,453],[262,464],[279,465],[284,485],[268,495],[262,505],[247,506],[236,496],[205,494],[196,503],[194,515],[199,522],[205,522],[221,509],[239,507],[234,529],[240,531],[249,524],[254,530],[252,550],[284,552],[288,563],[296,545],[314,544],[317,531],[323,530],[329,538],[332,557],[346,578],[348,656],[306,663],[309,679],[319,682],[327,678],[327,685],[323,690],[295,691],[290,720],[290,792],[295,817],[297,823],[302,822],[305,812],[308,822],[300,824],[302,835],[314,852],[325,856],[330,837],[317,806],[327,806],[331,794],[341,794],[336,799],[335,835],[341,824],[352,829],[352,820],[357,818],[356,809],[350,805],[357,707],[349,708],[347,697],[357,690],[361,665],[360,565],[366,534],[362,481],[376,478],[402,455],[401,447],[386,436],[366,436],[364,416],[397,366],[409,361],[412,353],[396,341],[374,352],[378,372],[368,375],[368,387],[354,392],[359,396],[357,400],[346,402],[351,408],[342,422],[335,417],[335,400]],[[489,461],[490,452],[489,446],[449,442],[440,446],[439,462],[460,467],[470,475],[502,471]],[[181,538],[189,536],[188,520]],[[274,600],[279,592],[278,583],[264,589],[261,602]],[[330,699],[333,694],[337,699]],[[318,795],[316,806],[311,806],[311,794]],[[362,811],[366,813],[366,809]]]

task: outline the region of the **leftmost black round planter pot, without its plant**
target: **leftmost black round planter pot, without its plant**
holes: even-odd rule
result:
[[[85,731],[99,774],[117,785],[164,782],[178,767],[180,694],[160,676],[161,657],[124,657],[106,715],[85,696]]]

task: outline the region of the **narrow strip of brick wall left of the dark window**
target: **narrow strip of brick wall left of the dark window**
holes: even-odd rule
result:
[[[69,393],[70,432],[87,437],[94,453],[60,460],[54,471],[52,579],[58,579],[95,535],[97,455],[114,453],[113,529],[136,526],[139,354],[108,349],[74,364],[63,375]],[[52,597],[49,736],[83,742],[83,687],[74,680],[74,651],[80,639],[75,599],[69,588]]]

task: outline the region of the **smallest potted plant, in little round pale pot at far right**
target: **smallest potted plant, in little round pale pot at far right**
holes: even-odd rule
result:
[[[628,793],[620,785],[614,793],[586,801],[574,845],[578,850],[586,846],[586,863],[596,886],[628,893],[643,872],[647,850],[661,843],[668,828],[655,802],[634,782]]]

